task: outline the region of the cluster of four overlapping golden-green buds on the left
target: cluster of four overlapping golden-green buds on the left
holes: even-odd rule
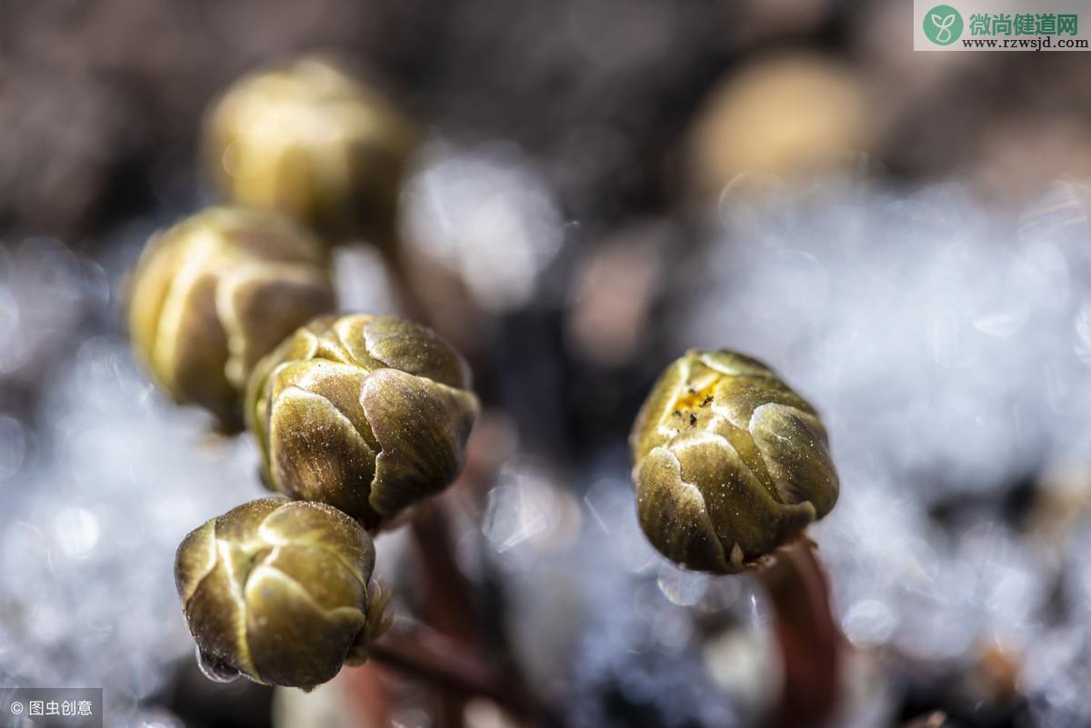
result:
[[[229,203],[148,242],[130,336],[175,401],[245,423],[283,495],[190,533],[176,584],[211,674],[312,688],[389,626],[373,533],[457,477],[478,403],[430,330],[332,314],[327,241],[387,242],[413,145],[388,102],[302,60],[229,90],[207,138]]]

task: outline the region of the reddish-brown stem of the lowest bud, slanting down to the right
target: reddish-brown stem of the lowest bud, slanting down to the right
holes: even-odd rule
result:
[[[511,690],[504,676],[467,648],[428,629],[394,628],[368,647],[370,659],[419,678],[460,699],[483,696],[529,719],[533,704]]]

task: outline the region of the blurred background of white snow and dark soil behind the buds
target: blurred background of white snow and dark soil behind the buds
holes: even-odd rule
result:
[[[690,347],[767,361],[829,427],[836,725],[1091,725],[1088,57],[914,53],[911,24],[894,1],[8,0],[0,684],[104,687],[109,726],[374,725],[353,670],[305,695],[199,672],[173,549],[262,493],[256,452],[156,392],[121,325],[147,236],[211,199],[208,105],[324,51],[425,130],[407,278],[485,405],[455,554],[573,726],[757,726],[776,700],[753,580],[681,572],[636,524],[625,437]],[[397,310],[365,244],[337,282]],[[405,541],[380,571],[411,612]],[[380,725],[431,728],[396,688]]]

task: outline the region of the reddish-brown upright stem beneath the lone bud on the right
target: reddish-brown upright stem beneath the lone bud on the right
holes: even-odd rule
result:
[[[840,690],[841,636],[829,609],[826,574],[805,536],[780,548],[759,572],[772,603],[783,663],[778,728],[822,726]]]

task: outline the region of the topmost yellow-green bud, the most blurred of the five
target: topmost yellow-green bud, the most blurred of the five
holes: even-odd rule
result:
[[[277,209],[338,241],[393,240],[418,132],[377,90],[302,58],[244,76],[213,107],[205,148],[235,202]]]

